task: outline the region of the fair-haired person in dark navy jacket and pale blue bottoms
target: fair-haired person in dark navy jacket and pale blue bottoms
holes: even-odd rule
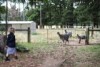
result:
[[[15,59],[18,59],[17,53],[16,53],[16,40],[15,40],[15,29],[10,28],[9,29],[9,34],[7,37],[7,45],[6,45],[6,58],[5,61],[10,61],[10,55],[13,55]]]

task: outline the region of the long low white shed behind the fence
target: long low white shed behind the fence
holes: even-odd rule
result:
[[[8,21],[8,28],[13,27],[15,29],[28,29],[30,27],[31,32],[36,32],[36,23],[34,21]],[[5,21],[0,22],[1,25],[5,25]]]

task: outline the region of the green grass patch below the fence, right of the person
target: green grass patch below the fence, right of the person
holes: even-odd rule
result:
[[[26,47],[31,50],[31,52],[37,52],[37,51],[51,51],[54,48],[56,48],[56,45],[54,43],[47,44],[46,42],[40,42],[40,43],[19,43],[21,46]]]

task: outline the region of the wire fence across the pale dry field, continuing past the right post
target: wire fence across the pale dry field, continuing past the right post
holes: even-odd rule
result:
[[[86,35],[86,28],[60,28],[60,29],[36,29],[36,32],[31,32],[31,42],[32,43],[47,43],[47,44],[59,44],[60,40],[57,32],[60,34],[65,34],[65,30],[72,32],[72,37],[69,38],[70,43],[78,44],[77,34]],[[27,31],[16,31],[16,42],[27,42]],[[100,41],[100,32],[95,31],[93,37],[91,37],[90,32],[90,43],[98,43]]]

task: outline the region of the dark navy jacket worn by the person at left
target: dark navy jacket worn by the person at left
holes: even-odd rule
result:
[[[16,44],[15,44],[15,35],[13,33],[8,34],[7,37],[7,46],[11,47],[11,48],[15,48]]]

